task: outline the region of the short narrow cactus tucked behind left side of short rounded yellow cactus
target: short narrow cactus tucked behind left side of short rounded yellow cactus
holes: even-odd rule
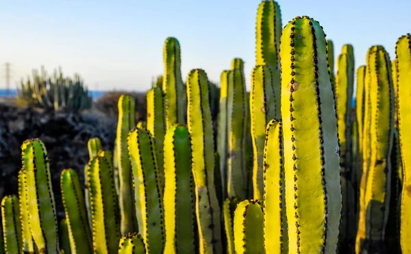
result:
[[[223,220],[225,236],[227,237],[227,253],[234,254],[234,211],[240,203],[236,197],[226,198],[223,204]]]

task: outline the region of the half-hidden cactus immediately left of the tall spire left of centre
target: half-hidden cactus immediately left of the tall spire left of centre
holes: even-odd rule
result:
[[[162,89],[153,88],[147,92],[147,130],[155,140],[155,155],[160,173],[160,187],[164,189],[163,143],[166,135],[164,94]]]

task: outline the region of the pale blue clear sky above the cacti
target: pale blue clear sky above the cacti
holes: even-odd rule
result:
[[[255,65],[259,0],[1,1],[0,88],[3,63],[12,85],[34,68],[80,73],[90,89],[145,91],[163,73],[162,46],[175,36],[182,46],[183,79],[202,68],[219,82],[234,57],[245,60],[247,87]],[[279,0],[283,26],[297,15],[320,21],[338,56],[352,43],[356,67],[368,47],[381,44],[393,59],[395,42],[411,32],[409,0]]]

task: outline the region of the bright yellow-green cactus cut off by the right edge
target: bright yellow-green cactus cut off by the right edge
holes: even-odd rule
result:
[[[398,128],[403,162],[403,185],[401,194],[401,250],[411,252],[411,126],[410,94],[411,94],[411,38],[410,34],[401,36],[395,46],[397,55],[397,97]]]

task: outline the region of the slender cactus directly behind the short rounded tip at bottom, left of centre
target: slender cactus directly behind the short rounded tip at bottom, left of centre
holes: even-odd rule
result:
[[[121,234],[137,230],[133,203],[132,169],[127,154],[127,135],[136,126],[134,119],[134,98],[121,95],[119,98],[119,122],[117,124],[116,157],[119,162],[119,204],[121,212]]]

